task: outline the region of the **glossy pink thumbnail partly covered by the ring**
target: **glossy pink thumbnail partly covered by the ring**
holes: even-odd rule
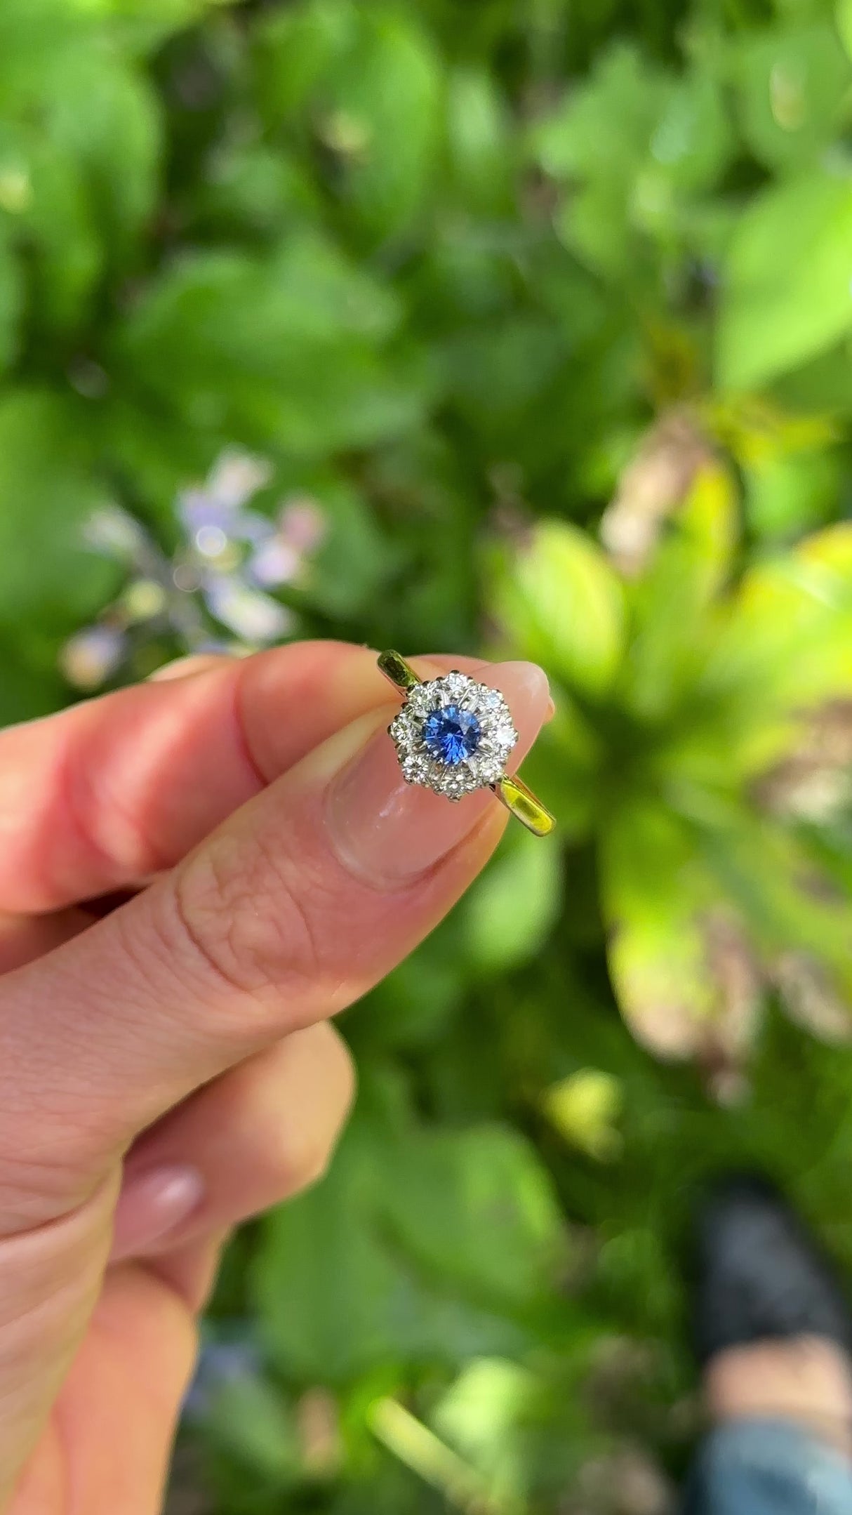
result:
[[[515,771],[546,718],[546,676],[536,664],[508,662],[483,670],[480,677],[502,691],[512,711],[519,733],[510,758]],[[393,888],[440,862],[496,803],[489,789],[451,803],[406,783],[383,727],[331,782],[327,826],[351,873],[377,888]]]

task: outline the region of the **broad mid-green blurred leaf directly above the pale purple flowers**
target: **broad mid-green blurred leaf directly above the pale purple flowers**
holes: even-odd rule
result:
[[[191,426],[324,454],[409,429],[425,379],[386,356],[395,298],[307,233],[269,258],[186,256],[117,333],[129,388]]]

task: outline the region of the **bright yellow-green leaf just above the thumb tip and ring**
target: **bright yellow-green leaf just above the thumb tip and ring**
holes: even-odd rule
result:
[[[602,695],[623,653],[623,594],[604,553],[566,521],[540,521],[498,570],[492,611],[513,647],[569,686]]]

